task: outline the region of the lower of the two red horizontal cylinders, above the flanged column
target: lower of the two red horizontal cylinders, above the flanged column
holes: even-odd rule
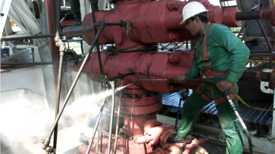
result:
[[[87,73],[89,78],[96,82],[101,82],[99,76],[99,65],[97,59],[97,53],[92,52],[90,54],[90,59],[87,61],[84,72]],[[169,56],[178,55],[180,61],[176,64],[172,64],[169,61]],[[101,57],[105,56],[104,52],[101,52]],[[102,60],[101,59],[101,60]],[[140,78],[147,79],[167,79],[176,78],[179,74],[184,74],[191,67],[190,52],[185,50],[169,51],[169,52],[156,52],[156,51],[146,51],[146,52],[119,52],[117,55],[106,56],[104,62],[103,73],[107,74],[108,77],[116,76],[117,72],[129,73],[134,71],[134,75],[126,76],[124,78],[124,85],[132,83],[133,81]],[[71,71],[77,71],[81,63],[77,66],[74,62],[68,62],[68,68]],[[120,79],[117,79],[118,84]],[[139,89],[146,89],[148,91],[165,92],[171,93],[175,90],[173,87],[178,88],[185,87],[194,89],[197,87],[198,83],[187,82],[184,84],[177,84],[176,82],[167,83],[166,81],[139,81],[134,85],[129,85],[123,89],[123,93],[130,94],[132,97],[133,89],[134,93],[137,93]],[[141,95],[141,92],[139,96]],[[141,96],[140,96],[141,97]],[[132,100],[130,100],[132,102]],[[145,101],[145,100],[144,100]],[[129,102],[130,103],[130,102]],[[155,102],[156,103],[156,102]]]

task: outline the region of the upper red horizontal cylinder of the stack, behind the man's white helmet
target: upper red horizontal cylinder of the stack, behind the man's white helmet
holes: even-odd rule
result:
[[[144,0],[145,1],[145,0]],[[208,0],[192,0],[201,2],[209,10],[208,19],[211,22],[221,23],[225,17],[230,26],[237,25],[234,15],[222,16],[219,6],[210,5]],[[126,48],[140,42],[142,43],[165,43],[174,41],[184,41],[196,38],[185,29],[185,23],[179,25],[182,20],[182,8],[190,1],[176,0],[117,0],[112,11],[95,12],[96,20],[104,22],[119,22],[120,19],[131,22],[126,30],[124,27],[107,26],[99,36],[99,44],[115,43],[116,48]],[[231,13],[232,14],[232,13]],[[63,34],[67,37],[81,36],[88,44],[91,44],[94,33],[91,13],[87,14],[81,25],[65,27]],[[238,23],[238,22],[237,22]],[[137,48],[145,47],[145,44]]]

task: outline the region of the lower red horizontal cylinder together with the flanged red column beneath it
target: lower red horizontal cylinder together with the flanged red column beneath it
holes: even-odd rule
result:
[[[90,59],[83,71],[86,72],[93,81],[100,81],[98,78],[99,66],[96,54],[96,52],[90,54]],[[102,58],[104,54],[104,52],[101,52]],[[81,63],[74,65],[74,62],[68,62],[68,68],[77,71],[80,64]],[[139,78],[175,78],[178,74],[185,73],[190,66],[190,52],[185,50],[169,52],[119,52],[116,55],[106,56],[103,73],[111,77],[116,76],[117,72],[128,73],[134,71],[134,75],[124,77],[124,85],[126,85]],[[120,84],[120,79],[116,81]],[[129,95],[129,98],[121,98],[120,107],[120,112],[124,113],[124,126],[127,138],[144,136],[144,132],[150,128],[148,125],[152,127],[159,125],[159,123],[149,119],[156,119],[155,111],[161,109],[161,94],[152,95],[150,93],[152,93],[151,91],[170,93],[175,90],[171,88],[174,86],[178,88],[195,88],[197,83],[178,84],[167,83],[166,81],[139,81],[122,90],[124,95]],[[132,98],[133,95],[137,95],[137,98]],[[146,97],[142,97],[142,95]],[[151,131],[155,130],[156,132],[153,133],[155,135],[149,143],[137,144],[134,143],[134,140],[120,138],[120,149],[124,153],[139,154],[153,151],[155,147],[160,146],[159,136],[162,134],[162,130],[166,130],[157,128],[158,127],[151,128]],[[173,131],[173,133],[169,132],[169,135],[175,133],[174,130],[171,131]],[[149,132],[145,132],[145,135],[148,136],[147,133]],[[167,135],[167,137],[169,135]]]

